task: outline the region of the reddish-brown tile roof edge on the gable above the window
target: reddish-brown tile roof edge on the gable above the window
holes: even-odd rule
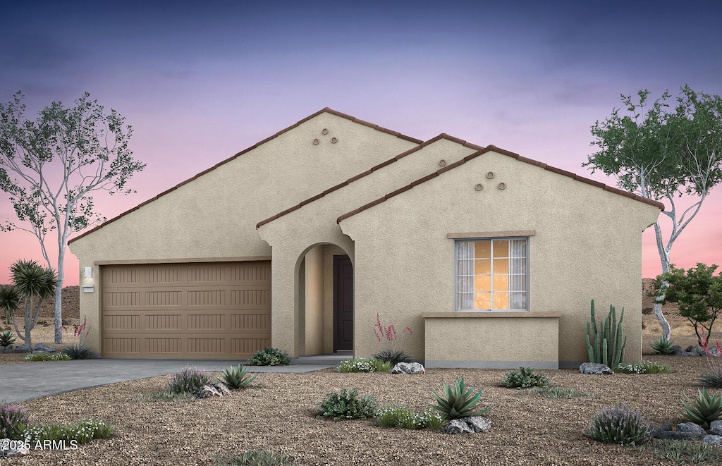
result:
[[[350,211],[350,212],[347,212],[346,214],[343,214],[342,216],[339,216],[339,218],[336,219],[336,223],[337,223],[337,224],[340,224],[343,220],[348,219],[348,218],[351,217],[351,216],[355,216],[355,215],[358,214],[359,212],[365,211],[367,208],[372,208],[373,206],[377,206],[378,204],[380,204],[380,203],[382,203],[382,202],[384,202],[384,201],[387,201],[389,198],[393,198],[393,196],[395,196],[395,195],[397,195],[397,194],[400,194],[400,193],[403,193],[403,192],[406,191],[406,190],[412,189],[412,188],[414,188],[414,186],[417,186],[417,185],[420,185],[420,184],[422,184],[422,183],[425,183],[425,182],[427,182],[428,180],[431,180],[431,179],[434,178],[434,177],[438,177],[439,175],[441,175],[441,174],[444,173],[444,172],[448,172],[449,170],[453,170],[453,169],[456,168],[456,167],[461,167],[462,164],[465,164],[465,163],[468,162],[469,160],[474,159],[474,158],[476,158],[476,157],[479,157],[479,156],[482,155],[482,154],[486,154],[486,153],[489,152],[489,151],[494,151],[494,152],[496,152],[497,154],[503,154],[503,155],[506,155],[506,156],[508,156],[508,157],[512,157],[512,158],[514,158],[514,159],[519,160],[520,162],[524,162],[524,163],[536,165],[537,167],[541,167],[541,168],[543,168],[544,170],[549,170],[550,172],[558,173],[558,174],[560,174],[560,175],[564,175],[564,176],[573,178],[574,180],[581,181],[582,183],[587,183],[587,184],[589,184],[589,185],[593,185],[593,186],[596,186],[596,187],[598,187],[598,188],[602,188],[602,189],[604,189],[604,190],[606,190],[606,191],[609,191],[609,192],[611,192],[611,193],[623,195],[623,196],[625,196],[625,197],[627,197],[627,198],[634,199],[635,201],[639,201],[639,202],[642,202],[642,203],[645,203],[645,204],[649,204],[649,205],[651,205],[651,206],[655,206],[656,208],[659,208],[659,209],[661,209],[661,210],[664,210],[664,204],[661,203],[661,202],[652,201],[651,199],[643,198],[643,197],[640,196],[640,195],[636,195],[636,194],[632,194],[632,193],[627,193],[627,191],[625,191],[625,190],[620,190],[620,189],[617,189],[617,188],[612,188],[611,186],[607,186],[607,185],[605,185],[604,183],[599,183],[599,181],[589,180],[588,178],[580,177],[579,175],[576,175],[575,173],[572,173],[572,172],[567,172],[566,170],[561,170],[561,169],[555,168],[555,167],[549,167],[549,165],[547,165],[547,164],[544,164],[544,163],[541,163],[541,162],[537,162],[536,160],[527,159],[526,157],[521,157],[519,154],[515,154],[514,152],[506,151],[506,150],[504,150],[504,149],[499,149],[497,146],[490,145],[490,146],[487,146],[487,147],[485,147],[485,148],[481,148],[479,151],[474,152],[474,154],[467,155],[466,157],[464,157],[464,159],[461,159],[461,160],[459,160],[458,162],[455,162],[455,163],[453,163],[453,164],[451,164],[451,165],[448,165],[447,167],[443,167],[443,168],[441,168],[440,170],[437,170],[436,172],[431,173],[430,175],[426,175],[425,177],[419,178],[418,180],[410,183],[409,185],[406,185],[406,186],[403,186],[403,187],[401,187],[401,188],[399,188],[399,189],[397,189],[397,190],[394,190],[394,191],[392,191],[391,193],[388,193],[387,195],[384,195],[382,198],[378,198],[378,199],[376,199],[375,201],[372,201],[372,202],[370,202],[370,203],[365,204],[364,206],[361,206],[360,208],[357,208],[357,209],[355,209],[355,210],[353,210],[353,211]]]

